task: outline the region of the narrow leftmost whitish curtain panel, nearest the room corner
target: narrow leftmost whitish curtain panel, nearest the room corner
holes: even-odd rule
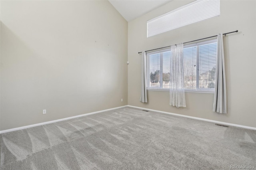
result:
[[[148,103],[147,97],[147,86],[146,86],[146,52],[142,52],[142,61],[141,61],[141,94],[140,101],[142,103]]]

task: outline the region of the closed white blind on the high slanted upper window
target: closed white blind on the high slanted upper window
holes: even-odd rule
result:
[[[220,0],[196,0],[147,22],[147,36],[154,36],[182,26],[220,15]]]

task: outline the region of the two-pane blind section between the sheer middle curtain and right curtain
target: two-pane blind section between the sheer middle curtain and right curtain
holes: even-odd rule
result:
[[[184,46],[184,88],[214,91],[217,40]]]

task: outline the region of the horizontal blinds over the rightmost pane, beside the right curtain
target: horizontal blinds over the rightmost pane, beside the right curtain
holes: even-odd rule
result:
[[[217,43],[199,45],[198,88],[214,89]]]

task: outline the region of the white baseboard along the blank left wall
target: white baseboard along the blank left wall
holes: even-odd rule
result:
[[[92,113],[86,113],[86,114],[83,114],[83,115],[67,117],[67,118],[58,119],[58,120],[54,120],[54,121],[48,121],[48,122],[37,123],[37,124],[34,124],[34,125],[28,125],[28,126],[24,126],[24,127],[18,127],[18,128],[11,128],[11,129],[7,129],[7,130],[2,130],[2,131],[0,131],[0,134],[1,133],[6,133],[6,132],[12,132],[12,131],[15,131],[15,130],[21,130],[21,129],[24,129],[24,128],[30,128],[30,127],[37,127],[37,126],[41,126],[41,125],[46,125],[46,124],[49,124],[49,123],[66,121],[68,119],[74,119],[74,118],[77,118],[77,117],[88,116],[88,115],[92,115],[92,114],[96,114],[96,113],[101,113],[101,112],[105,112],[105,111],[111,111],[111,110],[119,109],[119,108],[122,108],[122,107],[127,107],[127,105],[121,106],[121,107],[115,107],[115,108],[112,108],[112,109],[106,109],[106,110],[102,110],[102,111],[96,111],[96,112],[92,112]]]

